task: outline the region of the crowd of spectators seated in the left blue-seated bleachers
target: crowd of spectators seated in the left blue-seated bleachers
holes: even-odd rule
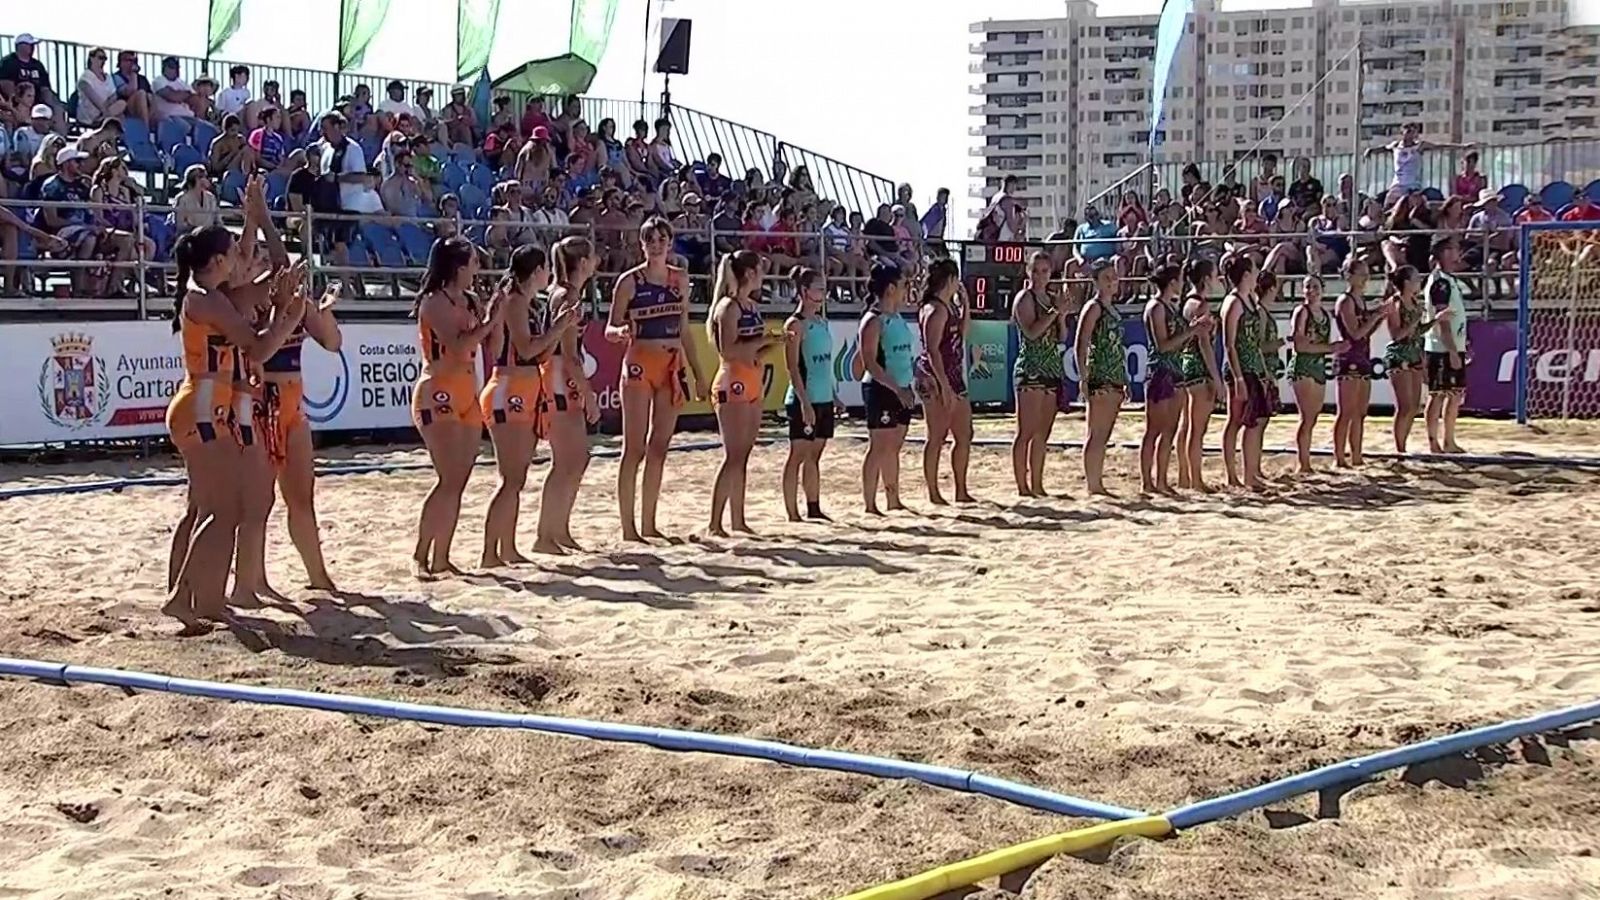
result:
[[[173,211],[149,223],[142,245],[131,211],[40,207],[8,215],[0,218],[0,259],[19,256],[19,239],[51,258],[162,259],[178,234],[219,221],[254,171],[267,173],[291,237],[333,266],[363,266],[368,258],[390,264],[368,247],[365,223],[376,223],[426,240],[464,232],[494,266],[518,245],[549,245],[581,229],[595,235],[603,271],[614,272],[640,259],[638,226],[661,216],[677,231],[680,261],[698,274],[709,274],[720,253],[754,250],[770,261],[774,282],[795,266],[813,266],[851,290],[864,285],[877,258],[917,269],[949,221],[946,189],[925,215],[910,186],[899,187],[894,203],[850,210],[819,195],[805,165],[779,157],[771,175],[750,168],[739,178],[715,152],[680,159],[670,120],[638,120],[622,136],[611,119],[586,122],[576,96],[554,106],[534,96],[520,110],[512,98],[496,96],[480,120],[464,86],[435,106],[430,88],[413,93],[395,80],[376,102],[368,85],[357,85],[331,109],[312,110],[304,91],[285,96],[277,82],[262,83],[258,94],[248,66],[230,66],[222,86],[210,74],[184,80],[179,61],[166,58],[152,82],[136,53],[120,51],[110,66],[110,54],[96,48],[62,99],[35,56],[37,43],[19,35],[16,51],[0,61],[0,199],[93,199],[131,210],[149,189],[150,203]],[[134,133],[158,144],[171,170],[166,189],[128,178]],[[112,162],[101,187],[99,173]],[[315,234],[301,234],[306,211],[314,213]],[[416,261],[416,253],[406,256]],[[74,272],[75,295],[134,287],[131,269]],[[32,279],[0,267],[0,295],[32,288]]]

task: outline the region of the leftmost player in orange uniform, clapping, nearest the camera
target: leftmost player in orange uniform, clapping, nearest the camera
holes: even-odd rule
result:
[[[232,232],[205,226],[173,248],[178,298],[173,328],[184,348],[184,381],[166,407],[166,426],[189,474],[189,506],[173,536],[170,596],[162,609],[179,620],[181,634],[208,631],[226,617],[229,562],[240,522],[240,445],[235,434],[234,367],[238,352],[270,357],[299,325],[306,296],[280,272],[270,285],[264,328],[238,314],[226,285],[242,271]]]

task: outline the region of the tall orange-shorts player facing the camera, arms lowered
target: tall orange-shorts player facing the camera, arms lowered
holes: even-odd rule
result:
[[[688,399],[685,370],[694,373],[694,396],[707,392],[706,373],[690,349],[690,275],[667,264],[672,226],[653,218],[638,229],[645,264],[622,272],[611,295],[605,335],[627,344],[622,356],[622,460],[616,471],[616,503],[622,540],[659,538],[656,503],[661,477]],[[638,464],[645,464],[645,496],[634,525]]]

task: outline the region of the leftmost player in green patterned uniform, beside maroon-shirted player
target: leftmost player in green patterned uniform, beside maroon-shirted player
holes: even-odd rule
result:
[[[1011,474],[1022,496],[1045,493],[1045,455],[1050,432],[1056,428],[1056,397],[1067,378],[1061,362],[1061,341],[1072,306],[1050,290],[1050,255],[1038,251],[1027,261],[1027,283],[1011,301],[1011,320],[1018,331],[1016,367],[1016,439],[1011,442]]]

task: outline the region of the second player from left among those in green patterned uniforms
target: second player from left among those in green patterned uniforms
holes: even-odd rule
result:
[[[1106,445],[1117,428],[1117,413],[1128,391],[1128,351],[1122,343],[1122,317],[1117,314],[1117,269],[1110,259],[1090,264],[1094,298],[1078,312],[1074,357],[1083,384],[1083,480],[1090,493],[1107,493],[1101,476],[1106,471]]]

